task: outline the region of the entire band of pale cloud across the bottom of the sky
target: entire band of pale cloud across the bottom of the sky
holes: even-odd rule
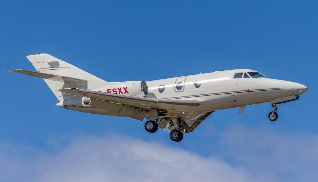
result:
[[[117,135],[79,137],[55,153],[0,142],[0,181],[316,182],[318,179],[315,134],[234,125],[216,131],[216,135],[218,143],[206,148],[210,157],[180,149],[178,143],[171,147]],[[193,147],[198,145],[199,142]]]

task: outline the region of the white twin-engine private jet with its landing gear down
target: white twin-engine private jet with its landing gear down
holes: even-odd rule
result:
[[[145,129],[158,127],[179,142],[212,112],[270,102],[270,121],[277,104],[294,101],[307,87],[270,79],[251,69],[215,71],[154,81],[107,82],[49,54],[27,56],[37,70],[9,70],[43,78],[62,108],[101,115],[147,118]]]

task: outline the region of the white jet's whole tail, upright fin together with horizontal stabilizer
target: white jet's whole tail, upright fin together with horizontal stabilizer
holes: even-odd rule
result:
[[[74,97],[74,95],[58,91],[59,89],[80,88],[85,90],[94,90],[110,84],[105,80],[89,74],[88,72],[49,54],[38,53],[35,55],[29,55],[27,58],[37,72],[21,69],[9,71],[43,78],[60,102],[70,99]]]

